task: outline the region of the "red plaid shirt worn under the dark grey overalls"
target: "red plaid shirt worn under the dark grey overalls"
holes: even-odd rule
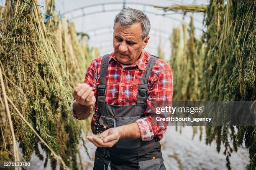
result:
[[[150,54],[142,51],[138,61],[128,67],[122,67],[120,62],[112,52],[109,57],[109,65],[107,71],[107,82],[106,82],[106,98],[105,102],[111,105],[135,105],[137,102],[138,85],[141,82],[141,77],[145,71],[146,64]],[[97,57],[93,60],[87,69],[85,74],[84,83],[87,83],[93,88],[94,95],[97,99],[97,84],[99,83],[100,76],[100,63],[102,57]],[[168,121],[156,122],[148,113],[152,112],[152,104],[156,101],[172,101],[173,93],[173,79],[172,69],[163,60],[157,59],[153,67],[151,75],[148,78],[148,92],[146,99],[146,117],[138,119],[138,123],[141,139],[152,140],[154,135],[157,135],[158,139],[163,138],[163,134],[166,131]],[[97,106],[97,102],[96,102]],[[97,107],[95,108],[97,112]],[[73,113],[74,115],[74,113]],[[167,115],[166,115],[167,116]],[[77,119],[79,117],[74,115]],[[91,129],[95,134],[94,130],[95,119],[91,121]]]

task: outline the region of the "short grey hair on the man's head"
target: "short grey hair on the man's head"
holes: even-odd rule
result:
[[[123,27],[129,27],[136,22],[141,23],[141,37],[144,39],[148,36],[150,30],[150,22],[146,14],[140,10],[133,9],[131,7],[124,7],[118,15],[115,16],[114,29],[116,23],[120,23]]]

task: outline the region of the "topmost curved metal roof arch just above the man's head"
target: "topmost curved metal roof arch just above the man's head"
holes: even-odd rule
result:
[[[115,4],[123,4],[123,2],[106,2],[106,3],[99,3],[99,4],[93,4],[93,5],[87,5],[87,6],[84,6],[84,7],[79,7],[79,8],[75,8],[74,10],[69,10],[67,12],[64,12],[62,13],[62,15],[65,15],[67,13],[71,13],[71,12],[74,12],[74,11],[77,11],[77,10],[84,10],[85,8],[88,8],[88,7],[95,7],[95,6],[101,6],[103,7],[102,10],[98,10],[98,11],[94,11],[94,12],[91,12],[91,13],[82,13],[82,15],[77,15],[75,17],[73,17],[72,19],[77,19],[77,18],[80,18],[80,17],[84,17],[84,16],[88,16],[88,15],[94,15],[94,14],[97,14],[97,13],[106,13],[106,12],[119,12],[120,9],[110,9],[110,10],[105,10],[105,5],[115,5]],[[131,5],[143,5],[143,7],[145,6],[150,6],[152,7],[151,5],[149,4],[145,4],[145,3],[140,3],[140,2],[126,2],[125,4],[131,4]],[[163,14],[159,14],[159,13],[154,13],[154,12],[150,12],[150,11],[146,11],[144,10],[143,12],[145,13],[148,13],[148,14],[153,14],[153,15],[157,15],[157,16],[163,16],[165,18],[168,18],[168,19],[171,19],[171,20],[176,20],[176,21],[179,21],[179,19],[177,18],[174,18],[174,17],[170,17],[169,15],[170,14],[177,14],[177,13],[168,13],[168,14],[165,14],[165,12]],[[187,17],[185,15],[185,17]],[[196,19],[194,19],[195,21],[197,21],[198,23],[202,23]]]

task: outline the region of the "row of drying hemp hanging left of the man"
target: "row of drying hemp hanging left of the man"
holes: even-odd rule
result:
[[[57,161],[61,169],[77,169],[79,140],[87,148],[81,131],[84,122],[70,113],[71,94],[74,85],[84,81],[87,61],[97,52],[92,55],[86,40],[77,40],[74,24],[54,14],[54,0],[46,2],[47,20],[37,4],[7,0],[0,8],[0,78],[5,87],[0,90],[0,160],[15,157],[11,121],[23,155],[20,160],[29,161],[33,152],[44,160],[40,143],[46,152],[44,167],[50,159],[52,169]]]

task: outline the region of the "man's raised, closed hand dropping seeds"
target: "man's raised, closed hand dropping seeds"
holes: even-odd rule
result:
[[[77,87],[74,88],[74,92],[72,95],[76,102],[80,105],[90,106],[94,105],[96,102],[92,87],[90,87],[86,83],[77,84]]]

